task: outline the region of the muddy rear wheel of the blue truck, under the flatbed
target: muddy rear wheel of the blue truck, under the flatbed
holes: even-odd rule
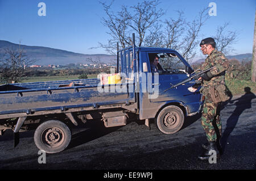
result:
[[[46,153],[58,153],[69,145],[71,131],[65,123],[59,120],[48,120],[36,128],[34,141],[40,150]]]

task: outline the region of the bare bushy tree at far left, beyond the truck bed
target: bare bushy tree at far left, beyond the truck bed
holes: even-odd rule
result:
[[[29,58],[23,49],[6,49],[5,54],[0,57],[0,82],[15,83],[22,81],[26,67],[35,61]]]

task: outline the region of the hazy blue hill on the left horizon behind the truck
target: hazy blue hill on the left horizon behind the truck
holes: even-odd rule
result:
[[[7,48],[18,49],[19,44],[0,40],[0,54],[5,53],[5,49]],[[92,58],[92,60],[100,58],[101,62],[106,64],[116,60],[115,56],[109,54],[81,54],[67,50],[27,45],[20,45],[20,48],[22,48],[30,58],[36,58],[37,61],[35,64],[38,65],[92,64],[92,62],[86,60],[86,58]]]

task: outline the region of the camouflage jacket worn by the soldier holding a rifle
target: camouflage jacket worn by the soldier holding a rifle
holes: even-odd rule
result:
[[[208,94],[209,87],[218,86],[220,84],[225,85],[225,71],[228,69],[229,62],[223,53],[213,50],[210,55],[205,59],[205,62],[201,65],[200,69],[205,70],[215,65],[215,68],[210,70],[210,73],[214,75],[210,81],[203,81],[203,94]]]

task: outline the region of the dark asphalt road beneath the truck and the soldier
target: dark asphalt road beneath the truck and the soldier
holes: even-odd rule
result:
[[[89,122],[74,129],[68,149],[46,154],[46,163],[38,163],[41,154],[32,131],[20,133],[13,148],[13,132],[0,136],[1,170],[255,170],[256,169],[256,97],[234,96],[221,111],[224,154],[217,163],[197,158],[206,142],[200,114],[185,119],[175,134],[163,134],[154,123],[148,129],[143,122],[131,121],[124,127],[104,128]]]

